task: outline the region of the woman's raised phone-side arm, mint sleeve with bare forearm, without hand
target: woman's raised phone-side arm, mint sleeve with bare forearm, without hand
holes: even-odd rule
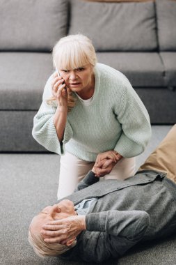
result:
[[[56,100],[48,104],[49,98],[53,97],[51,82],[53,75],[47,80],[42,105],[34,116],[32,135],[47,150],[61,155],[65,152],[64,145],[72,138],[73,132],[70,123],[67,122],[66,110],[63,112]]]

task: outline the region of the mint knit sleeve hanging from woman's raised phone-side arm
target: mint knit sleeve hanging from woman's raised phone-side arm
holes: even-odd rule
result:
[[[51,80],[52,75],[47,80],[44,93],[42,96],[42,105],[38,113],[33,119],[33,138],[47,150],[62,155],[65,153],[65,144],[72,137],[72,128],[70,123],[66,123],[63,142],[59,142],[56,128],[54,126],[54,114],[56,112],[56,102],[53,101],[52,105],[47,103],[47,100],[52,97],[51,93]]]

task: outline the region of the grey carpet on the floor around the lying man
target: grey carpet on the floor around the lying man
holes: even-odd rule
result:
[[[152,126],[152,139],[137,167],[159,144],[171,126]],[[27,241],[33,216],[56,202],[59,157],[54,154],[0,154],[0,264],[80,264],[37,257]],[[176,236],[136,245],[125,257],[104,264],[175,264]],[[87,263],[81,263],[87,264]]]

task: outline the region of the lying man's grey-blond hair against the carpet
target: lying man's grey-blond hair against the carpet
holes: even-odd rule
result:
[[[61,245],[59,243],[46,243],[40,234],[33,234],[29,228],[28,241],[35,253],[40,257],[58,256],[73,248],[77,240],[72,245]]]

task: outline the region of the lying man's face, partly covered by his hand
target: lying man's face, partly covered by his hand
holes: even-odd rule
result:
[[[64,199],[53,206],[47,206],[33,218],[30,227],[31,232],[40,234],[42,225],[45,225],[47,222],[67,218],[72,215],[77,215],[77,212],[74,211],[74,204],[68,199]],[[47,236],[45,236],[46,238]]]

